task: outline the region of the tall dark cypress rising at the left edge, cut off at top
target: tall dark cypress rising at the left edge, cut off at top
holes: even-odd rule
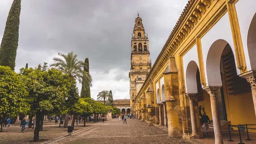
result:
[[[12,70],[15,67],[19,40],[20,3],[21,0],[13,0],[0,46],[0,65],[9,66]]]

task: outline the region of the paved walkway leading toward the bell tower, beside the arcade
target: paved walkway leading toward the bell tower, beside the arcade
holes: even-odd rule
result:
[[[68,144],[189,144],[184,139],[168,138],[168,132],[157,126],[149,126],[137,119],[118,119],[92,127],[88,131],[72,135],[58,143]]]

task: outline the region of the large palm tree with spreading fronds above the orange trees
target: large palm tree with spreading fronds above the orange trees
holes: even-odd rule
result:
[[[77,55],[73,53],[73,51],[68,54],[58,53],[61,58],[53,58],[55,63],[50,66],[56,67],[58,70],[62,71],[64,74],[68,74],[70,77],[77,79],[79,83],[82,82],[84,78],[84,83],[88,83],[91,85],[91,75],[84,71],[83,68],[87,65],[77,59]],[[64,127],[68,127],[68,113],[65,116]]]

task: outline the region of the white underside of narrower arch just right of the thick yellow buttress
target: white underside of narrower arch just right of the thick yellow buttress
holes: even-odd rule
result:
[[[197,63],[190,61],[186,69],[186,92],[197,93]]]

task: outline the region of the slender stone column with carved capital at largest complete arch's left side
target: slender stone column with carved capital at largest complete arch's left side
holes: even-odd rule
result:
[[[221,86],[207,86],[203,90],[210,95],[215,144],[223,144],[216,94]]]

